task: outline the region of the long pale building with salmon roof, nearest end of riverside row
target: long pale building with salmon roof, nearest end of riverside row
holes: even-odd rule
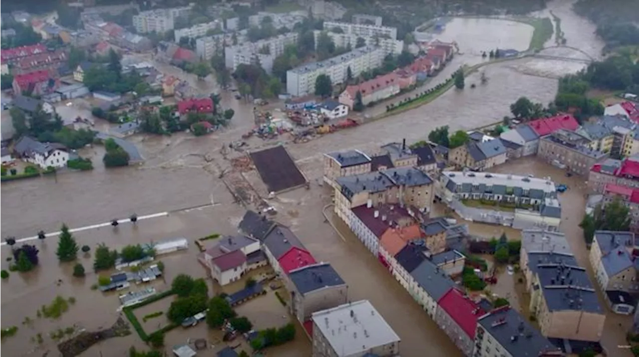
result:
[[[399,77],[397,73],[390,72],[385,75],[379,75],[374,79],[367,80],[357,85],[348,86],[339,95],[339,102],[348,105],[353,109],[357,100],[357,93],[362,96],[362,104],[380,102],[386,98],[397,95],[399,93]]]

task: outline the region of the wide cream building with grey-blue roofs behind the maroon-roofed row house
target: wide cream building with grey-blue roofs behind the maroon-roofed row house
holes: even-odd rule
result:
[[[408,205],[415,206],[415,211],[430,212],[433,203],[433,180],[412,167],[337,178],[337,186],[335,212],[344,222],[352,219],[352,208],[364,204]]]

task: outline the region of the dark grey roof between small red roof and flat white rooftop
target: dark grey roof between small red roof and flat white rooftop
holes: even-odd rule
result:
[[[307,265],[289,272],[288,277],[300,294],[346,284],[328,263]]]

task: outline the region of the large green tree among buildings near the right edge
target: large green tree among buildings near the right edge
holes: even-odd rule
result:
[[[629,209],[620,199],[615,199],[605,206],[598,205],[592,214],[585,215],[579,227],[583,229],[586,243],[590,244],[595,231],[627,231],[630,222]]]

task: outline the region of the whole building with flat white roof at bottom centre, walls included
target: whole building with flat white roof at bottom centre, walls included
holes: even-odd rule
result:
[[[368,300],[312,314],[312,357],[399,356],[400,338]]]

